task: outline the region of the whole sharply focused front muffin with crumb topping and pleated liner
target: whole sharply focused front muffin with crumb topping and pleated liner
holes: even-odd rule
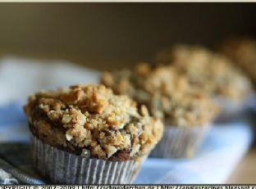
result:
[[[163,125],[103,85],[41,91],[24,107],[35,168],[53,183],[131,183]]]

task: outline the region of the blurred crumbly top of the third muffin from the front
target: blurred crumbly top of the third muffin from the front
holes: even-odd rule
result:
[[[226,56],[199,46],[176,46],[158,53],[158,63],[170,64],[185,74],[190,85],[212,97],[242,100],[249,92],[249,79]]]

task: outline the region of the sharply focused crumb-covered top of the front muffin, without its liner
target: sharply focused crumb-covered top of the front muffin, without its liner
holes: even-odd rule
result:
[[[43,142],[103,160],[147,155],[163,132],[162,122],[145,106],[103,85],[37,92],[24,110],[31,132]]]

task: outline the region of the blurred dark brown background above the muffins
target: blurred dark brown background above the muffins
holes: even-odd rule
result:
[[[1,3],[0,51],[98,69],[132,66],[173,43],[214,47],[256,34],[255,3]]]

